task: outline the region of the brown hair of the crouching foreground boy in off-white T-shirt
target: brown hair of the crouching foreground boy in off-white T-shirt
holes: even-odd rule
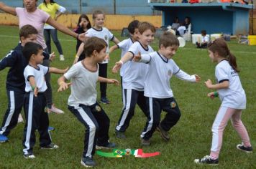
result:
[[[86,57],[91,57],[94,50],[101,52],[104,47],[108,47],[108,44],[106,44],[104,39],[99,37],[90,37],[86,39],[86,42],[84,42],[83,51],[86,54]]]

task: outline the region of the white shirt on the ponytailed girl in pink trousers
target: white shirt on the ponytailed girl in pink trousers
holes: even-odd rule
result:
[[[229,81],[229,88],[218,90],[221,106],[234,109],[246,108],[246,95],[237,72],[227,60],[222,60],[215,68],[217,83]]]

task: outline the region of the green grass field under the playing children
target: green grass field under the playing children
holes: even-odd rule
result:
[[[120,33],[114,32],[115,36],[122,40],[123,37],[120,37]],[[0,58],[5,57],[7,52],[17,46],[18,34],[19,30],[16,26],[0,26]],[[57,54],[51,66],[70,67],[76,52],[76,40],[61,33],[59,33],[59,39],[63,47],[65,61],[60,62]],[[157,39],[152,47],[157,50]],[[241,69],[239,77],[247,94],[247,109],[242,114],[242,121],[247,127],[252,145],[256,148],[256,46],[237,44],[237,40],[234,40],[229,42],[229,47],[237,57],[237,64]],[[58,53],[54,44],[52,44],[52,49]],[[111,68],[119,60],[120,53],[120,51],[116,51],[111,54],[108,69],[110,78],[119,79],[119,74],[112,74]],[[178,49],[173,59],[180,69],[188,74],[200,75],[201,82],[193,84],[175,77],[171,79],[170,84],[181,111],[180,121],[170,130],[171,139],[168,143],[160,137],[158,132],[155,132],[151,139],[152,145],[143,148],[146,153],[160,151],[161,155],[147,159],[133,156],[103,158],[95,155],[97,168],[212,168],[211,166],[196,165],[193,160],[209,155],[211,148],[211,125],[219,109],[220,101],[206,97],[210,90],[205,87],[204,81],[211,79],[215,82],[215,65],[211,63],[206,49],[196,49],[190,42],[186,44],[186,47]],[[0,72],[1,122],[7,107],[5,88],[7,72],[8,69]],[[37,144],[34,149],[36,158],[34,160],[24,159],[22,156],[24,124],[18,124],[8,136],[9,142],[0,144],[0,168],[82,168],[80,160],[83,153],[85,129],[67,108],[70,90],[57,92],[58,77],[60,75],[52,74],[54,103],[64,110],[65,114],[50,114],[49,117],[50,125],[55,127],[55,131],[51,132],[52,141],[60,148],[58,150],[40,150],[37,134]],[[122,149],[141,148],[140,132],[145,126],[145,116],[137,108],[126,132],[127,140],[117,140],[114,137],[114,126],[119,120],[122,109],[121,87],[109,84],[107,95],[111,104],[102,106],[111,120],[109,130],[111,142],[116,143],[117,147]],[[23,112],[22,114],[24,115]],[[162,115],[165,115],[165,112]],[[242,153],[236,148],[238,143],[241,143],[241,140],[229,122],[224,131],[219,165],[214,168],[256,168],[255,153]]]

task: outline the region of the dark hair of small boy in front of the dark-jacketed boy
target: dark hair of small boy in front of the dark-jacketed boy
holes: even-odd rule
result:
[[[35,42],[27,42],[22,49],[23,56],[29,61],[32,54],[38,54],[42,50],[42,46]]]

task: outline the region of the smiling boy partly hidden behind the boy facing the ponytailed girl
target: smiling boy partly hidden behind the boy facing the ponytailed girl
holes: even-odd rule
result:
[[[119,118],[119,122],[116,125],[116,137],[125,139],[125,130],[129,127],[129,122],[134,115],[134,109],[136,104],[140,106],[142,112],[147,115],[146,100],[143,95],[144,80],[147,72],[147,65],[141,63],[132,62],[132,57],[139,52],[147,54],[154,50],[150,47],[150,43],[154,40],[155,26],[148,22],[141,22],[139,24],[139,41],[134,42],[129,51],[124,54],[124,57],[116,62],[112,72],[117,72],[123,64],[125,64],[123,74],[123,88],[124,88],[124,107],[122,114]]]

